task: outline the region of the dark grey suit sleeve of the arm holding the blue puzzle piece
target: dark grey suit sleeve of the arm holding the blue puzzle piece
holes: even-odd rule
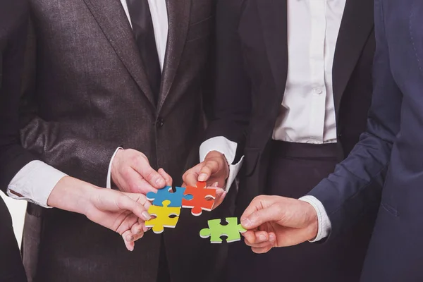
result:
[[[20,103],[23,147],[50,166],[100,187],[106,186],[111,157],[118,145],[106,140],[90,139],[69,130],[66,125],[38,116],[35,96],[36,38],[32,27],[28,35]]]

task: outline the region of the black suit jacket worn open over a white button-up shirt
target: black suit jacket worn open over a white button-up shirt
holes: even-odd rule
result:
[[[217,82],[207,138],[223,135],[245,155],[240,211],[263,192],[269,143],[288,72],[287,3],[221,0],[217,8]],[[364,131],[372,94],[373,2],[347,0],[333,63],[339,158]]]

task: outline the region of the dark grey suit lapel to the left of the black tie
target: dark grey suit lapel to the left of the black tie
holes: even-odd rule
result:
[[[119,0],[84,1],[125,68],[155,107],[154,94],[142,67],[140,51],[121,2]]]

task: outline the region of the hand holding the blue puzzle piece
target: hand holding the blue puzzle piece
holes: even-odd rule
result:
[[[164,169],[154,171],[145,154],[134,149],[118,150],[111,164],[111,179],[119,190],[143,195],[172,185],[172,178]]]

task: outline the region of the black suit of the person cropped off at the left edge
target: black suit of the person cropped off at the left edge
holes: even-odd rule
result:
[[[32,160],[15,145],[27,17],[26,1],[0,3],[0,188],[4,192],[14,174]],[[11,215],[1,199],[0,250],[0,281],[27,281]]]

